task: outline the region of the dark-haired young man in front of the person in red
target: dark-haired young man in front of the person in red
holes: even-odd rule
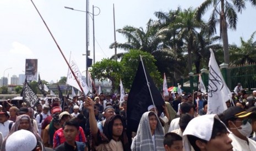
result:
[[[86,150],[85,143],[75,141],[79,134],[79,125],[76,118],[66,121],[63,125],[63,133],[65,142],[55,148],[56,151],[84,151]]]

